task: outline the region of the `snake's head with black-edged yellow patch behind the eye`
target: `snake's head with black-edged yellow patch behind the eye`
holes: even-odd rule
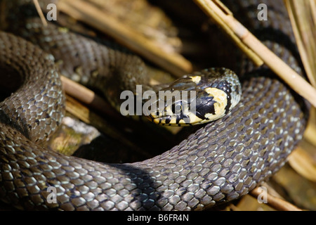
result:
[[[218,120],[237,105],[242,94],[237,75],[225,68],[186,75],[158,92],[147,117],[168,126]]]

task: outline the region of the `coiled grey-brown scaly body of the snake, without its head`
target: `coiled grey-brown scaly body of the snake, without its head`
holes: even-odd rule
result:
[[[282,1],[267,3],[270,19],[264,23],[251,13],[258,1],[233,4],[248,16],[246,25],[265,34],[272,51],[302,71]],[[308,115],[302,98],[268,68],[243,59],[249,76],[241,79],[237,106],[162,155],[107,164],[56,153],[40,143],[65,113],[59,73],[107,88],[105,95],[114,99],[118,88],[112,84],[135,88],[134,76],[144,74],[144,63],[55,25],[44,27],[37,18],[20,22],[25,29],[0,32],[1,82],[12,79],[9,72],[21,80],[0,103],[0,199],[19,210],[204,210],[241,198],[268,180],[302,139]],[[84,71],[75,73],[79,65]],[[137,82],[145,86],[145,76]],[[55,201],[49,200],[50,187]]]

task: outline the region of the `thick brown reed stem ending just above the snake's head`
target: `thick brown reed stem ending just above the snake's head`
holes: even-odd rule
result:
[[[81,20],[92,27],[109,34],[121,44],[144,56],[153,63],[173,73],[183,75],[192,71],[192,65],[178,53],[166,53],[153,41],[134,32],[130,27],[119,20],[110,17],[99,8],[88,4],[86,1],[59,1],[60,11]]]

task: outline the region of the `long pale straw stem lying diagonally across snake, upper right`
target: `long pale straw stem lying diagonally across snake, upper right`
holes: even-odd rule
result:
[[[289,65],[284,63],[279,57],[272,53],[264,44],[259,41],[254,34],[244,27],[238,20],[231,14],[225,13],[222,8],[218,7],[216,3],[211,0],[194,0],[199,7],[210,17],[213,14],[209,11],[216,13],[218,18],[225,23],[232,32],[234,32],[239,39],[246,44],[254,53],[256,53],[268,67],[273,70],[284,82],[287,82],[294,91],[307,99],[312,105],[316,107],[316,89],[314,89],[308,82],[305,81],[300,75],[292,70]],[[213,17],[212,17],[213,18]]]

